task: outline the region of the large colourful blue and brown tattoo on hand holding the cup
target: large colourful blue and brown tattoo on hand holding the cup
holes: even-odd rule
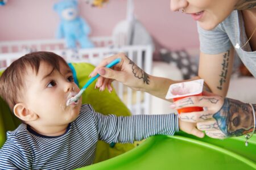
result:
[[[250,105],[234,99],[225,98],[222,108],[213,114],[213,118],[227,137],[250,133],[254,127]]]

